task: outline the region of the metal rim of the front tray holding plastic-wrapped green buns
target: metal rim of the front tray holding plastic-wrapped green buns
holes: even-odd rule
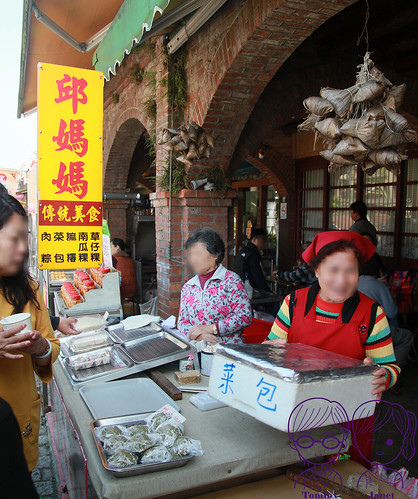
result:
[[[144,473],[152,473],[154,471],[169,470],[172,468],[180,468],[187,464],[193,456],[181,457],[172,459],[166,463],[153,463],[153,464],[137,464],[135,466],[129,466],[128,468],[111,468],[107,464],[107,452],[103,450],[101,441],[97,438],[95,428],[100,426],[109,425],[126,425],[131,426],[133,424],[145,424],[144,417],[148,414],[133,414],[131,416],[121,416],[118,418],[106,418],[106,419],[94,419],[90,423],[90,429],[93,434],[93,440],[97,446],[99,452],[100,460],[105,470],[112,473],[115,477],[123,478],[126,476],[141,475]]]

